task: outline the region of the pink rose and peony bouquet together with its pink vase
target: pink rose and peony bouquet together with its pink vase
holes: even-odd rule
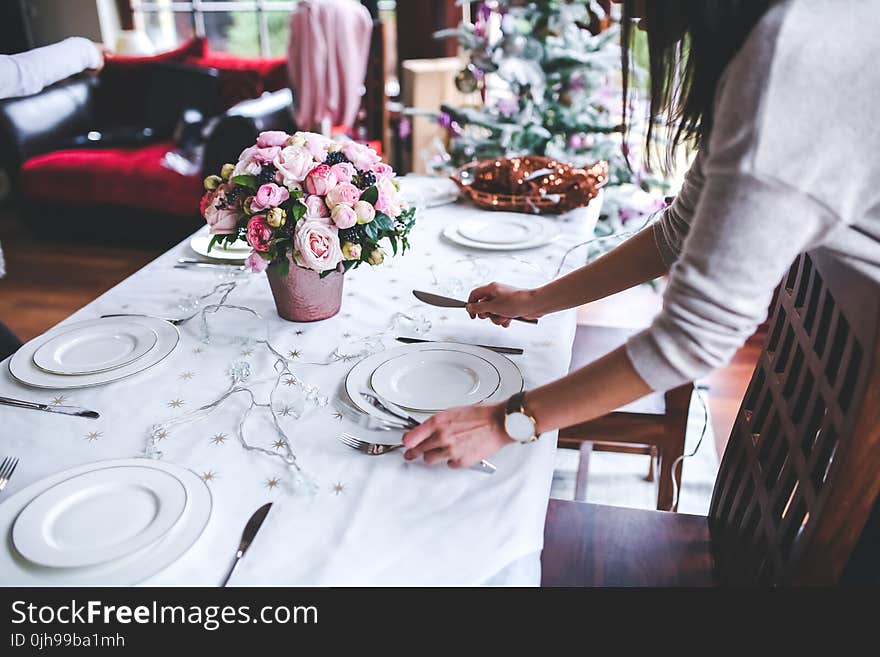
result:
[[[246,240],[246,266],[266,271],[278,314],[335,315],[346,271],[381,264],[387,240],[406,252],[415,209],[372,148],[313,132],[263,132],[236,164],[205,179],[201,213],[215,244]]]

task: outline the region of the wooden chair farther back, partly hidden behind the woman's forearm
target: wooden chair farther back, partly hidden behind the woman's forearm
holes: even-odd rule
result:
[[[637,329],[579,326],[571,369],[579,369],[614,351],[636,332]],[[654,462],[659,465],[657,508],[675,511],[672,479],[675,477],[676,486],[681,490],[683,464],[680,463],[674,473],[672,464],[684,453],[693,390],[693,384],[688,383],[666,394],[648,395],[613,413],[560,431],[559,447],[580,450],[575,499],[587,499],[587,473],[592,450],[647,454],[650,457],[649,480],[654,478]]]

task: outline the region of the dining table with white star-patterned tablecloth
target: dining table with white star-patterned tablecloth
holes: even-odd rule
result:
[[[204,308],[211,298],[200,297],[223,283],[234,283],[227,304],[248,310],[183,322],[167,358],[105,385],[29,387],[4,363],[0,396],[86,407],[100,417],[0,406],[0,456],[20,459],[0,506],[16,491],[68,468],[161,458],[206,483],[211,513],[195,543],[143,585],[218,585],[248,518],[272,502],[229,585],[537,586],[555,432],[492,455],[493,474],[407,461],[402,450],[368,456],[338,439],[342,432],[366,433],[338,403],[347,373],[364,355],[401,346],[398,337],[520,347],[523,354],[507,358],[522,372],[527,390],[568,372],[575,311],[505,329],[471,320],[463,309],[426,305],[412,294],[418,289],[466,299],[475,286],[492,280],[543,284],[558,274],[566,251],[593,232],[586,214],[575,212],[543,218],[557,226],[559,238],[528,250],[470,249],[443,237],[453,222],[493,216],[463,201],[420,207],[410,250],[349,271],[340,312],[312,323],[278,316],[264,274],[228,265],[176,266],[195,257],[189,239],[183,240],[61,324],[105,314],[184,317]],[[561,270],[583,264],[582,256],[574,253]],[[280,361],[285,373],[279,378]],[[223,395],[241,367],[249,372],[249,394],[232,395],[204,417],[187,419]],[[268,413],[246,415],[251,394],[271,405],[283,433]],[[242,440],[260,449],[244,449]],[[273,457],[287,447],[308,485]],[[15,584],[2,574],[0,583]]]

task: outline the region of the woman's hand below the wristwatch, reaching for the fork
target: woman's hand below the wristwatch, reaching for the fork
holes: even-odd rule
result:
[[[504,405],[462,406],[434,415],[406,433],[408,460],[424,455],[425,463],[446,461],[468,468],[514,442],[504,430]]]

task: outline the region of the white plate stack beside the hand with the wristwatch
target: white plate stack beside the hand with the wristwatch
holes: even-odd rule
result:
[[[370,390],[419,421],[454,406],[500,402],[522,387],[522,373],[511,360],[455,342],[411,344],[367,356],[345,380],[352,403],[364,413],[384,419],[360,395]]]

